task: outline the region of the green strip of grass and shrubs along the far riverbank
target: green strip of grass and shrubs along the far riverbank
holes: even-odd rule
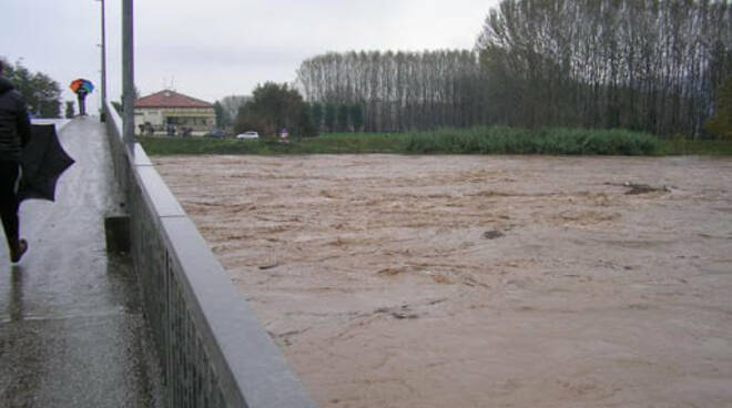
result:
[[[730,141],[660,140],[626,130],[506,126],[440,129],[433,132],[339,133],[281,143],[274,139],[140,137],[151,155],[172,154],[552,154],[673,155],[732,154]]]

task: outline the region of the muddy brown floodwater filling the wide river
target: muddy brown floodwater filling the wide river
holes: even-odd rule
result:
[[[732,407],[732,160],[155,163],[322,407]]]

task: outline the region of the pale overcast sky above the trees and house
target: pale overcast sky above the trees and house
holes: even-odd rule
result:
[[[64,89],[100,82],[100,2],[0,0],[0,57]],[[119,100],[121,0],[106,0],[108,86]],[[135,82],[214,102],[292,82],[326,51],[471,49],[498,0],[146,0],[134,3]],[[88,102],[98,106],[96,90]],[[94,109],[95,110],[95,109]]]

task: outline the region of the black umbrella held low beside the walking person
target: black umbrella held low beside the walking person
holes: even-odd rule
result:
[[[73,163],[61,147],[52,124],[33,124],[31,140],[21,156],[23,176],[18,197],[53,201],[55,182]]]

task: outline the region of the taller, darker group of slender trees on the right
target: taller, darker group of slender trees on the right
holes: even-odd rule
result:
[[[477,43],[509,124],[699,135],[732,72],[726,1],[509,1]]]

